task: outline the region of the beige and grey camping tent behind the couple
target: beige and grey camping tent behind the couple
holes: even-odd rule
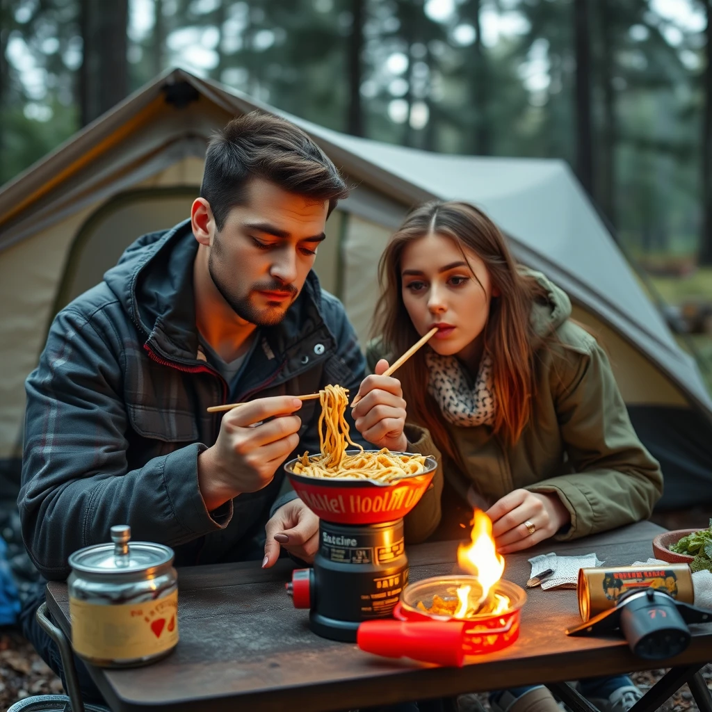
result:
[[[19,468],[23,380],[59,308],[100,281],[140,234],[189,214],[206,141],[261,108],[246,95],[172,70],[85,127],[0,191],[0,468]],[[640,436],[666,473],[663,506],[712,501],[712,401],[567,166],[477,158],[350,137],[295,117],[355,189],[328,221],[315,270],[362,342],[376,264],[409,206],[432,197],[483,207],[516,256],[567,290],[604,342]],[[1,472],[1,471],[0,471]],[[16,474],[15,474],[16,476]]]

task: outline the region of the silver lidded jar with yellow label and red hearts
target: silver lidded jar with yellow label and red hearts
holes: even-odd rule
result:
[[[93,665],[145,665],[178,643],[173,550],[130,544],[130,538],[130,527],[113,526],[112,544],[89,546],[69,557],[72,646]]]

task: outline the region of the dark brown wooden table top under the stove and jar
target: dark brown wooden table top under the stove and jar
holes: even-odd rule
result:
[[[660,531],[642,522],[570,543],[548,540],[508,555],[504,577],[524,587],[527,559],[548,551],[595,552],[611,565],[646,560]],[[412,581],[456,572],[454,542],[411,546],[408,555]],[[300,712],[318,712],[651,667],[622,638],[567,637],[564,630],[580,622],[576,592],[540,588],[528,591],[520,637],[508,649],[469,658],[460,669],[379,658],[310,632],[308,611],[293,608],[284,589],[291,569],[287,560],[267,571],[258,562],[179,569],[177,649],[143,668],[90,669],[112,709],[219,712],[298,705]],[[68,633],[66,584],[50,583],[47,600]],[[689,648],[655,666],[712,659],[712,624],[691,630]]]

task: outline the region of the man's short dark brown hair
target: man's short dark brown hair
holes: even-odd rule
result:
[[[218,231],[233,206],[246,201],[246,184],[260,178],[290,193],[329,201],[329,214],[348,189],[335,165],[300,128],[253,111],[211,138],[200,197],[209,202]]]

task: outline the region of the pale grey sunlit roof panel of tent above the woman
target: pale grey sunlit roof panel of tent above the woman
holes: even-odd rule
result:
[[[693,357],[676,344],[564,163],[437,155],[320,132],[372,164],[409,177],[434,196],[481,207],[513,239],[518,258],[548,273],[572,298],[631,335],[649,357],[686,385],[689,395],[712,410]]]

